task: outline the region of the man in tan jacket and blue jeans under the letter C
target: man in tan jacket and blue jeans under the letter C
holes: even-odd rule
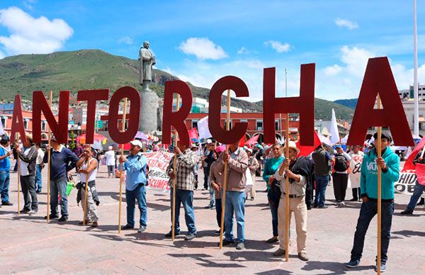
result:
[[[248,155],[239,147],[238,142],[229,145],[218,160],[217,169],[224,174],[227,162],[227,186],[225,203],[225,240],[223,245],[234,244],[233,215],[237,223],[236,249],[245,248],[245,185],[246,169],[248,169]],[[250,172],[248,171],[250,174]]]

